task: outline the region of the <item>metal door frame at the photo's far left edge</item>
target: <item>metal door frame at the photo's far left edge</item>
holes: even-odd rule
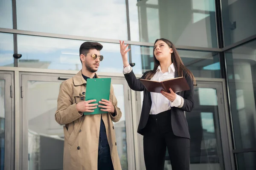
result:
[[[5,140],[4,140],[4,169],[14,169],[14,73],[0,71],[0,79],[5,82]]]

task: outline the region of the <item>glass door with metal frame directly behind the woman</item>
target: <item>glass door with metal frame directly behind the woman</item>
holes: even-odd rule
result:
[[[191,170],[231,170],[232,145],[228,138],[229,119],[223,89],[222,79],[219,82],[197,81],[197,86],[194,88],[194,110],[185,112],[191,136]],[[136,92],[136,95],[140,99],[137,101],[139,120],[143,92]],[[138,138],[141,169],[145,170],[143,136],[138,134]],[[172,170],[168,152],[166,152],[165,168]]]

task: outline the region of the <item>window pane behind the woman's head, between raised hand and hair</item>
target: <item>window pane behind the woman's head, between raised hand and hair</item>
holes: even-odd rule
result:
[[[178,50],[183,64],[195,77],[221,78],[219,55],[215,52]],[[153,47],[131,45],[135,74],[143,74],[154,68]]]

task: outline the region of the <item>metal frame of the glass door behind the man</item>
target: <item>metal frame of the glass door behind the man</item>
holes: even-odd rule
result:
[[[19,72],[20,81],[20,170],[28,169],[28,115],[23,114],[27,111],[26,93],[27,81],[47,81],[47,82],[62,82],[64,79],[73,77],[74,74],[58,74],[58,73],[34,73],[34,72]],[[99,75],[100,76],[100,75]],[[61,80],[58,79],[60,77]],[[114,77],[104,75],[100,76],[111,77],[112,84],[122,84],[124,87],[124,104],[125,104],[125,129],[126,129],[126,144],[127,144],[127,161],[128,168],[135,170],[134,163],[134,134],[132,132],[132,114],[130,89],[124,77]],[[118,102],[118,101],[117,101]],[[128,106],[128,107],[127,107]]]

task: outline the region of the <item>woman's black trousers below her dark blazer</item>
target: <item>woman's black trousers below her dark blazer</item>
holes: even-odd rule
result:
[[[190,140],[172,132],[171,110],[149,115],[143,136],[144,160],[147,170],[163,170],[166,147],[172,170],[189,170]]]

